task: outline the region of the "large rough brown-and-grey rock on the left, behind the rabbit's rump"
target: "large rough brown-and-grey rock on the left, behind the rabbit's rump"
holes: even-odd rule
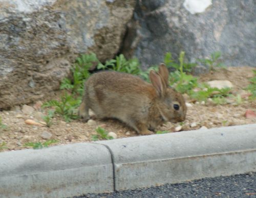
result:
[[[118,52],[135,0],[0,0],[0,109],[59,88],[79,53]]]

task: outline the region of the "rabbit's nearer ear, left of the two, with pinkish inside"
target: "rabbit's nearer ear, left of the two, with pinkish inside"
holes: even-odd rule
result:
[[[156,73],[156,71],[151,70],[150,80],[155,89],[157,90],[158,95],[160,97],[163,96],[166,91],[166,84],[164,83],[163,78],[158,73]]]

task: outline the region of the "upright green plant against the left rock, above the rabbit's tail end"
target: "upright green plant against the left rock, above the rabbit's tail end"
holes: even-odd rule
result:
[[[89,69],[93,65],[99,64],[94,53],[81,55],[78,57],[71,67],[71,79],[65,78],[62,80],[60,89],[71,90],[72,93],[78,93],[79,95],[83,92],[84,81],[90,76]]]

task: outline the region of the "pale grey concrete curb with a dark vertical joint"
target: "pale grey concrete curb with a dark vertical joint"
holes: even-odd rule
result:
[[[256,124],[0,153],[0,195],[68,197],[256,171]]]

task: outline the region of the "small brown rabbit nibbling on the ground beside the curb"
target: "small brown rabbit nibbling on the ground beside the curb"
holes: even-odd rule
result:
[[[152,84],[127,73],[95,73],[85,83],[79,116],[88,120],[91,109],[98,118],[117,118],[141,135],[152,134],[165,121],[183,121],[184,98],[168,86],[168,76],[164,64],[158,73],[150,71]]]

